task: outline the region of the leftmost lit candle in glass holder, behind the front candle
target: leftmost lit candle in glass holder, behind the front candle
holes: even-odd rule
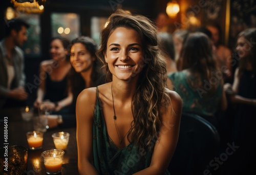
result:
[[[44,140],[43,136],[44,133],[38,130],[34,130],[33,132],[28,132],[27,134],[27,141],[29,144],[29,148],[34,149],[41,149],[42,148],[42,140]]]

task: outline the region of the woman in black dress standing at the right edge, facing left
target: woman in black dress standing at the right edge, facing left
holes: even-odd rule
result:
[[[239,146],[230,159],[225,174],[251,174],[255,172],[256,156],[256,28],[246,29],[238,35],[239,65],[233,84],[225,90],[233,104],[234,125],[232,142]]]

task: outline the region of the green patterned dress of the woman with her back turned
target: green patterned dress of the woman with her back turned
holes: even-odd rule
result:
[[[174,72],[167,75],[172,80],[174,91],[182,99],[182,112],[195,113],[200,116],[214,116],[221,100],[222,85],[220,80],[217,89],[210,96],[207,95],[208,82],[188,71]],[[217,82],[216,82],[217,83]],[[199,88],[203,84],[205,88]],[[203,94],[203,95],[202,95]]]

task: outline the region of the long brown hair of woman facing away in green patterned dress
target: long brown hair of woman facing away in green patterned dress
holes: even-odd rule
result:
[[[193,72],[199,73],[201,79],[211,82],[210,78],[215,77],[218,71],[216,59],[212,53],[212,45],[209,37],[202,32],[188,34],[184,40],[181,50],[181,70],[190,69]],[[210,83],[212,88],[205,94],[210,96],[214,93],[221,81]]]

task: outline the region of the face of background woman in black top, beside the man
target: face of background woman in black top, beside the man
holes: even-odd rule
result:
[[[59,39],[54,39],[50,45],[50,55],[52,59],[64,61],[66,59],[67,50],[63,47]]]

